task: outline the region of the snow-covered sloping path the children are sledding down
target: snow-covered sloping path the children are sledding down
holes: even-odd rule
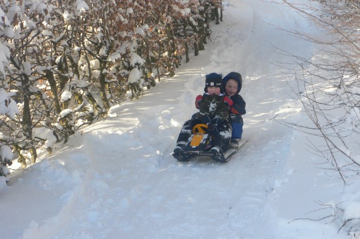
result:
[[[331,214],[317,211],[315,202],[351,193],[316,166],[309,135],[281,124],[307,124],[308,118],[289,87],[296,81],[277,66],[292,59],[275,47],[306,58],[315,50],[277,28],[309,31],[310,23],[281,4],[224,4],[223,22],[212,26],[206,50],[173,78],[138,101],[114,106],[115,117],[13,172],[0,191],[0,238],[349,238],[331,218],[297,220]],[[182,124],[196,112],[204,75],[231,71],[243,76],[249,142],[226,164],[177,162],[171,153]]]

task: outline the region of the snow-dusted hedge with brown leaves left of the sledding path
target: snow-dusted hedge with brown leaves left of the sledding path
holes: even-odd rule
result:
[[[191,49],[204,49],[221,13],[220,0],[3,3],[0,131],[23,167],[106,116],[129,85],[142,91],[172,76]]]

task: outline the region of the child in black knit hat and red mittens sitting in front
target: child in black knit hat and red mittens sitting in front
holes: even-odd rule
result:
[[[175,155],[183,153],[183,147],[191,136],[192,129],[197,124],[207,125],[207,133],[214,137],[214,147],[210,152],[214,155],[224,155],[230,145],[231,127],[228,121],[230,99],[222,93],[222,75],[217,73],[205,76],[205,93],[196,97],[198,113],[185,122],[174,149]],[[232,102],[231,102],[232,103]]]

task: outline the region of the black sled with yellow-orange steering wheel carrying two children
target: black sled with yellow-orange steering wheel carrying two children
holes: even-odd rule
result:
[[[229,148],[224,155],[215,155],[210,152],[212,148],[212,136],[206,133],[207,125],[198,124],[193,128],[192,135],[179,154],[173,153],[178,161],[190,161],[192,156],[211,156],[214,161],[226,163],[248,141],[242,141],[237,148]]]

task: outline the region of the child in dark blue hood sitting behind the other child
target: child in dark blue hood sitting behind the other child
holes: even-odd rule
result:
[[[245,101],[239,94],[242,87],[241,75],[237,72],[230,72],[222,79],[224,93],[233,102],[230,107],[229,120],[232,125],[231,147],[237,148],[242,136],[243,119],[241,115],[246,113]]]

